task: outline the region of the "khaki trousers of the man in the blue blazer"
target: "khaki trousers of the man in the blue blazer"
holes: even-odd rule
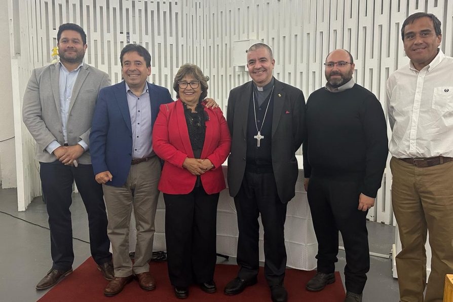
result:
[[[156,215],[161,176],[157,156],[129,170],[126,183],[121,187],[103,185],[107,207],[107,235],[111,242],[116,277],[127,277],[149,271],[148,261],[153,255]],[[129,258],[129,224],[132,209],[135,215],[137,243],[134,264]]]

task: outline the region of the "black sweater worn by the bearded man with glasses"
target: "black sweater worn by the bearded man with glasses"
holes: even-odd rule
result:
[[[351,89],[313,92],[306,106],[304,174],[361,182],[375,197],[388,155],[387,124],[381,103],[355,84]]]

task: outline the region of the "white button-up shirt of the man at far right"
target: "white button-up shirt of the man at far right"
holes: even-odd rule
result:
[[[387,114],[394,157],[453,157],[453,58],[439,50],[420,71],[410,62],[393,72]]]

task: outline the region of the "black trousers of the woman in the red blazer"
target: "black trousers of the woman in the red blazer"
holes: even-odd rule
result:
[[[168,275],[174,286],[212,281],[216,257],[219,193],[203,187],[189,194],[164,193]]]

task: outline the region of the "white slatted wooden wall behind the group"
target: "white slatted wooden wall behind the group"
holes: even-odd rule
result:
[[[408,15],[434,13],[442,22],[441,48],[447,55],[453,51],[453,3],[447,0],[9,1],[17,1],[21,12],[16,22],[20,24],[20,99],[31,68],[50,63],[58,26],[65,22],[85,29],[85,61],[106,71],[112,83],[121,81],[123,46],[139,43],[152,55],[150,82],[167,87],[175,96],[171,86],[178,67],[195,63],[211,78],[208,95],[223,109],[229,91],[249,81],[246,68],[233,64],[235,54],[243,53],[245,58],[245,49],[237,41],[270,45],[276,59],[275,77],[302,89],[306,98],[325,84],[322,63],[327,54],[335,48],[348,49],[356,63],[356,82],[372,91],[384,108],[389,74],[408,62],[400,36]],[[18,179],[18,191],[20,182],[26,207],[37,195],[39,179],[32,160],[34,142],[23,126],[16,131],[23,134],[18,156],[24,175],[18,172],[23,179]],[[370,220],[392,223],[390,187],[390,169],[386,169]]]

